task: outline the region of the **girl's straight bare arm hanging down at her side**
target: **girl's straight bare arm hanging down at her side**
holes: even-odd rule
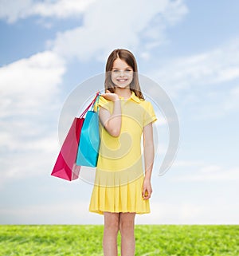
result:
[[[143,179],[143,199],[149,199],[152,194],[151,187],[151,174],[155,158],[155,148],[153,139],[153,125],[152,123],[147,124],[143,128],[143,152],[144,152],[144,165],[145,165],[145,176]]]

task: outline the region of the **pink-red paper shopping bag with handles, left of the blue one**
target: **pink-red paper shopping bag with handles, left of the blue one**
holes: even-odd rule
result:
[[[80,133],[84,124],[84,115],[88,112],[88,109],[95,104],[98,96],[99,93],[96,93],[95,98],[88,107],[84,109],[84,112],[81,113],[80,117],[74,118],[65,141],[62,144],[61,151],[57,157],[51,175],[69,181],[79,177],[80,166],[76,165],[76,156],[79,147]]]

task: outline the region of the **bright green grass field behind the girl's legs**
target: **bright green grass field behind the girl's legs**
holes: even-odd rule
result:
[[[0,255],[103,255],[102,234],[97,225],[0,226]],[[139,256],[239,256],[239,226],[139,225],[135,240]]]

